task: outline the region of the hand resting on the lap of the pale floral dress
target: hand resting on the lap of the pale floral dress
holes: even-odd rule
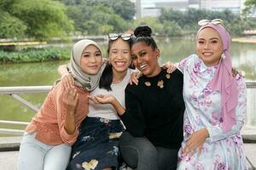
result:
[[[193,156],[195,150],[201,154],[201,149],[206,139],[209,137],[207,128],[202,128],[189,136],[187,144],[183,148],[183,156]]]

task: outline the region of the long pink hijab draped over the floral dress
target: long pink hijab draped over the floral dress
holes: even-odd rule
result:
[[[220,24],[214,25],[212,23],[201,26],[198,33],[207,27],[218,31],[224,45],[223,54],[225,57],[218,63],[218,69],[210,84],[212,90],[218,90],[221,94],[223,130],[224,132],[228,132],[236,124],[236,105],[238,100],[236,78],[232,76],[230,34],[224,26]]]

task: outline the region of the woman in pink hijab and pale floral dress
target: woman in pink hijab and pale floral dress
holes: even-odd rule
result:
[[[176,65],[183,72],[186,105],[177,169],[247,169],[241,139],[246,84],[232,74],[230,34],[221,23],[201,20],[197,54]]]

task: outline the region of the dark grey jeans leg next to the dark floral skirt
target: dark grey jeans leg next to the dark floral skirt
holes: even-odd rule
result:
[[[147,138],[135,138],[125,132],[119,139],[121,156],[125,163],[137,170],[157,170],[157,150]]]

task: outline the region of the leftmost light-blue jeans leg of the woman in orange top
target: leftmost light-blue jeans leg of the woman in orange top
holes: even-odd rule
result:
[[[35,134],[25,133],[20,144],[18,170],[43,170],[46,147],[35,139]]]

